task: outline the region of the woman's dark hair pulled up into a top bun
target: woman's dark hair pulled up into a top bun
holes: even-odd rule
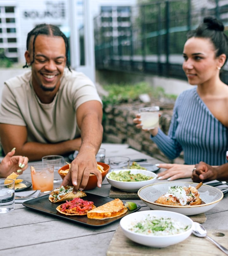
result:
[[[228,38],[223,31],[224,25],[221,21],[213,17],[205,17],[203,23],[196,30],[188,33],[187,39],[191,37],[209,38],[214,45],[216,57],[224,53],[226,55],[226,63],[228,59]]]

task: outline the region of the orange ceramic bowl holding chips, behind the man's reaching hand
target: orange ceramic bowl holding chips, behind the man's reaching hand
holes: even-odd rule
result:
[[[110,166],[106,163],[100,163],[98,162],[98,164],[100,164],[101,166],[104,167],[104,172],[101,173],[102,175],[102,181],[105,179],[105,176],[106,174],[108,173],[109,169],[110,169]],[[61,176],[62,179],[64,179],[64,177],[66,176],[66,174],[62,174],[60,173],[60,170],[67,170],[69,169],[69,164],[66,164],[64,165],[63,167],[61,167],[59,170],[58,170],[58,173],[59,175]],[[69,186],[72,186],[72,183],[71,184],[68,184]],[[89,180],[88,180],[88,183],[85,187],[85,190],[90,190],[90,189],[94,189],[97,187],[97,176],[94,175],[94,174],[90,174],[89,176]]]

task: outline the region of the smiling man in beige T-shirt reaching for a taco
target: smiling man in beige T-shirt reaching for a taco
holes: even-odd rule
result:
[[[4,152],[16,147],[30,160],[78,150],[63,185],[83,190],[89,174],[102,178],[96,153],[102,142],[102,101],[83,73],[70,70],[68,42],[57,26],[39,24],[28,33],[26,65],[31,70],[4,83],[0,137]],[[65,68],[67,66],[67,68]]]

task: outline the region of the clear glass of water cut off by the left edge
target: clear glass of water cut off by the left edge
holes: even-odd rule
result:
[[[0,213],[14,210],[15,181],[0,179]]]

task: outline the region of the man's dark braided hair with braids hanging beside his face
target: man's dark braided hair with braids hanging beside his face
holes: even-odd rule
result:
[[[27,41],[26,41],[27,50],[29,48],[30,39],[31,39],[32,36],[34,36],[34,39],[33,39],[33,60],[31,62],[31,64],[34,62],[34,59],[35,59],[35,39],[37,38],[38,35],[56,36],[56,37],[62,37],[63,38],[63,40],[65,42],[65,46],[66,46],[66,66],[71,71],[70,65],[69,65],[69,59],[68,59],[68,51],[69,51],[68,40],[67,40],[66,36],[63,34],[63,32],[57,26],[52,25],[52,24],[45,24],[45,23],[38,24],[38,25],[35,26],[35,28],[33,30],[28,32]],[[28,67],[27,62],[25,63],[23,68],[25,68],[25,67]]]

